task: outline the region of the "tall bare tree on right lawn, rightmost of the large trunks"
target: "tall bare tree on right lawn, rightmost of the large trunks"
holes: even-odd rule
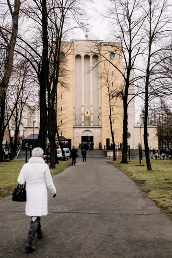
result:
[[[146,54],[146,72],[145,72],[145,117],[144,117],[144,144],[147,170],[152,170],[149,146],[148,146],[148,107],[151,98],[155,96],[158,89],[159,93],[163,93],[163,87],[156,85],[158,70],[157,65],[164,60],[164,52],[169,47],[168,39],[171,34],[172,15],[169,15],[168,10],[172,11],[172,6],[168,0],[148,0],[143,8],[145,13],[145,40],[147,39],[148,47],[144,50]],[[157,53],[161,53],[161,59],[157,62]]]

